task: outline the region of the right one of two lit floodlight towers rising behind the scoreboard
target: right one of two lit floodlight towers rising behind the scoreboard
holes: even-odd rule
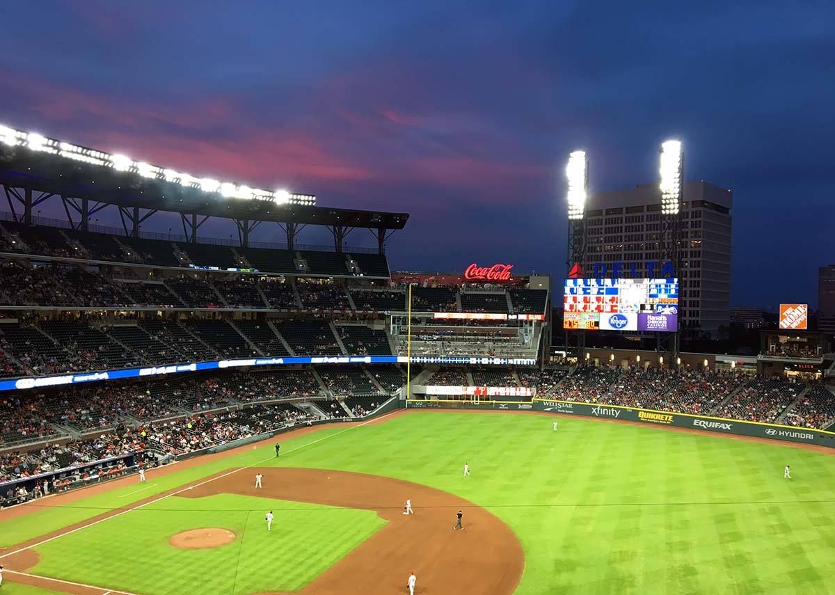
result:
[[[659,160],[659,189],[661,193],[661,233],[659,237],[661,256],[669,261],[679,278],[679,294],[681,295],[681,204],[684,199],[684,153],[681,150],[681,140],[666,140],[661,143]],[[681,298],[679,313],[681,314]],[[679,332],[655,333],[656,348],[661,353],[669,355],[667,361],[670,366],[678,367]],[[662,360],[660,360],[662,361]]]

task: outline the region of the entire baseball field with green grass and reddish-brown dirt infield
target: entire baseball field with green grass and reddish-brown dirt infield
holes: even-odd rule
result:
[[[554,419],[400,411],[0,511],[2,592],[835,592],[831,455]]]

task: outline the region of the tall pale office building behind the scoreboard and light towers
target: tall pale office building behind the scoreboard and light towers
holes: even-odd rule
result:
[[[683,200],[679,328],[714,335],[730,323],[733,194],[704,181],[687,182]],[[646,263],[664,258],[657,184],[590,195],[587,209],[587,271],[603,263],[611,272],[615,262],[623,262],[625,271],[635,267],[639,276],[649,275]]]

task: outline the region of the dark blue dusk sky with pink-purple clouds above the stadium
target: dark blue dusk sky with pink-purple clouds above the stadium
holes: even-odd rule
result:
[[[591,191],[618,190],[657,180],[668,138],[688,180],[734,192],[732,305],[815,304],[835,262],[835,3],[44,0],[0,18],[0,123],[405,211],[392,268],[562,276],[569,152]]]

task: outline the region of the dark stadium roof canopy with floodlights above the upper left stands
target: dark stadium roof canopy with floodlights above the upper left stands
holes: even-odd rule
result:
[[[352,229],[372,230],[382,252],[387,233],[402,229],[409,217],[407,213],[316,206],[312,195],[262,191],[234,182],[196,178],[124,155],[3,126],[0,186],[16,219],[17,211],[23,211],[19,216],[23,222],[32,221],[33,206],[57,196],[63,201],[69,222],[78,229],[86,230],[94,213],[115,206],[126,235],[137,235],[139,224],[149,216],[169,211],[180,214],[184,231],[193,241],[197,229],[209,217],[235,221],[244,245],[258,224],[275,222],[286,230],[290,247],[302,226],[317,225],[330,229],[337,251],[342,250],[342,240]],[[71,211],[75,211],[78,221],[73,221],[76,217]]]

